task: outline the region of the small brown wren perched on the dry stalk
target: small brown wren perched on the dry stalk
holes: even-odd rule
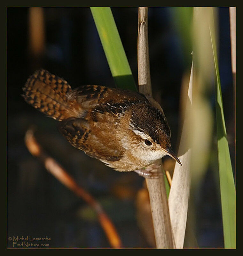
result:
[[[66,80],[40,69],[22,88],[25,101],[59,121],[75,148],[117,171],[157,178],[155,161],[172,151],[171,131],[159,103],[138,92],[100,85],[72,89]]]

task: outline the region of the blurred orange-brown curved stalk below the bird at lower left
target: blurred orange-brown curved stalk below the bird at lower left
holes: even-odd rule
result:
[[[74,179],[67,173],[67,171],[52,157],[48,156],[42,147],[38,144],[34,137],[33,130],[29,129],[25,135],[25,144],[29,152],[38,157],[44,164],[45,168],[57,178],[64,186],[73,191],[77,196],[81,197],[85,202],[87,202],[98,215],[98,220],[100,225],[105,231],[106,237],[109,240],[113,248],[122,248],[121,239],[105,213],[101,205],[82,187],[80,187]]]

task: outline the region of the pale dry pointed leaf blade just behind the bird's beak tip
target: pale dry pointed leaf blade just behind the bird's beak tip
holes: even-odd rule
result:
[[[188,98],[186,105],[186,113],[184,118],[184,124],[182,128],[182,135],[180,139],[180,145],[178,150],[178,156],[182,162],[182,166],[176,163],[173,179],[171,183],[170,193],[169,193],[169,210],[171,226],[173,230],[173,235],[175,238],[175,247],[183,248],[187,211],[188,211],[188,201],[190,194],[190,165],[191,165],[191,147],[189,147],[189,137],[191,133],[189,132],[191,127],[190,113],[192,106],[192,74],[193,69],[191,69],[190,82],[188,87]]]

